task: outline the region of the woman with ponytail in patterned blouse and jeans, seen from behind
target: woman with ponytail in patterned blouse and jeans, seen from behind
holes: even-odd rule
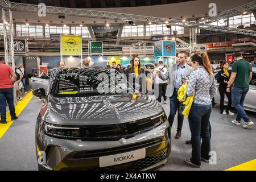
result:
[[[201,160],[208,162],[210,158],[209,119],[212,112],[212,98],[217,89],[207,53],[197,53],[192,56],[191,61],[195,71],[189,77],[187,96],[195,94],[188,116],[192,158],[185,159],[185,162],[191,166],[200,167]]]

